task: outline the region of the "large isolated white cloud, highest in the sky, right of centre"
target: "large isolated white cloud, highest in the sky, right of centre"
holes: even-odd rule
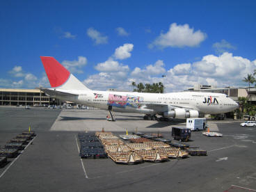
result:
[[[200,45],[206,37],[206,33],[202,33],[200,30],[194,31],[193,28],[189,28],[189,24],[177,25],[173,23],[170,24],[169,31],[161,33],[149,47],[161,49],[166,47],[195,47]]]

